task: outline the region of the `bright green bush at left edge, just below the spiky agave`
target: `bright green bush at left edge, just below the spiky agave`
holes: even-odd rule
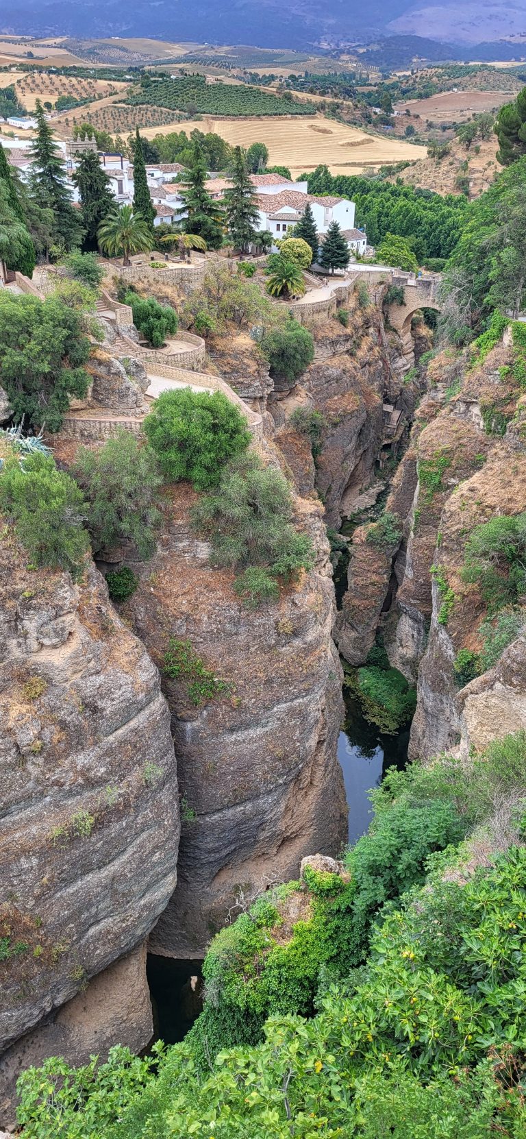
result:
[[[90,544],[83,495],[46,454],[17,458],[0,469],[0,511],[15,521],[17,538],[36,566],[68,570],[74,579]]]

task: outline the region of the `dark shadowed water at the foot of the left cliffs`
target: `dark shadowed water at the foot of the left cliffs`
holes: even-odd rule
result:
[[[154,1013],[154,1035],[176,1044],[203,1009],[203,961],[148,953],[146,974]]]

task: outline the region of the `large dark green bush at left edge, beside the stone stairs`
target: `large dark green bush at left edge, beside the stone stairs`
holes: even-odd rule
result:
[[[80,314],[59,297],[0,292],[0,384],[15,419],[59,431],[69,396],[87,393],[89,354]]]

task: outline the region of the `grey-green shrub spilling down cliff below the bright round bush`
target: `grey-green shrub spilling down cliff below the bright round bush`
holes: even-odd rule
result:
[[[238,571],[261,566],[286,582],[314,564],[312,543],[296,532],[291,518],[288,483],[253,451],[230,464],[217,491],[192,510],[194,525],[211,538],[216,565]]]

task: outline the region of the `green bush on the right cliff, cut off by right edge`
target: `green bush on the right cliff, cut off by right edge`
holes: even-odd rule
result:
[[[469,535],[462,579],[478,585],[490,613],[526,592],[525,550],[526,514],[499,515]]]

